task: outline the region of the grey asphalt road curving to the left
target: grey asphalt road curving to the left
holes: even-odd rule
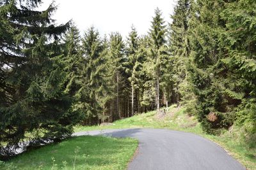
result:
[[[245,169],[216,143],[187,132],[167,129],[109,129],[77,132],[74,135],[85,134],[138,139],[138,155],[128,166],[132,170]]]

